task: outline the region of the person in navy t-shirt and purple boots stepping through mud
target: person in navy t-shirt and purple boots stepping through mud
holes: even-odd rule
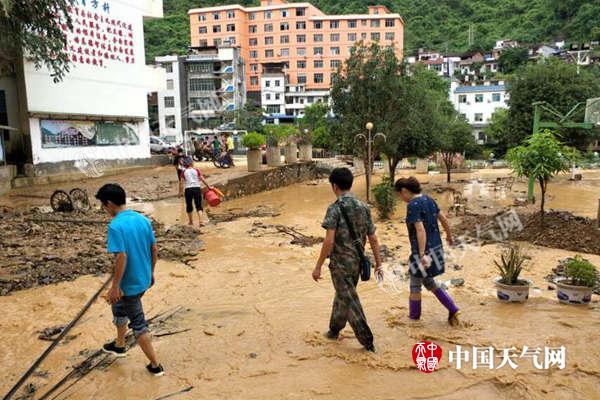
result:
[[[448,219],[431,197],[421,193],[421,184],[416,178],[398,179],[394,186],[400,198],[408,203],[406,226],[411,247],[409,318],[421,318],[421,286],[425,286],[448,309],[450,325],[458,325],[458,307],[434,279],[444,272],[444,248],[438,220],[446,231],[448,245],[452,246],[453,243]]]

